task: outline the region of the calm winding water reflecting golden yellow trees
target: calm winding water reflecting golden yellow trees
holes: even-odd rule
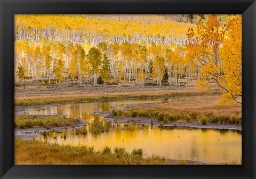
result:
[[[95,150],[102,150],[105,146],[112,149],[124,147],[127,151],[142,148],[149,156],[159,154],[167,159],[207,162],[239,161],[242,158],[242,134],[239,131],[226,129],[163,129],[157,126],[110,124],[102,119],[100,115],[95,114],[95,112],[135,107],[144,103],[179,102],[200,97],[203,96],[84,102],[32,108],[27,113],[30,115],[67,115],[68,117],[81,118],[89,123],[89,125],[81,128],[81,131],[86,130],[87,134],[77,134],[75,130],[50,132],[47,137],[40,138],[41,141],[61,145],[93,145]],[[103,127],[107,131],[95,133],[93,131],[95,127]]]

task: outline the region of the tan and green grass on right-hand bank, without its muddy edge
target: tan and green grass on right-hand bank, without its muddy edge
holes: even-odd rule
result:
[[[180,123],[220,123],[242,124],[241,104],[219,105],[220,96],[205,96],[201,100],[169,102],[154,107],[136,107],[130,110],[113,110],[114,117],[157,118],[164,124]]]

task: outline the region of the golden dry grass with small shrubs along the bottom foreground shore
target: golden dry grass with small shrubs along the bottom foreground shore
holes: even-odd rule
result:
[[[170,164],[163,157],[143,157],[139,149],[131,153],[124,148],[111,150],[105,147],[102,151],[95,151],[93,147],[71,147],[58,144],[47,144],[35,140],[15,139],[15,164],[22,165],[159,165]]]

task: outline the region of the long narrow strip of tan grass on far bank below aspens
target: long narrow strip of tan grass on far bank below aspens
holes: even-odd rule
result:
[[[90,90],[91,91],[88,91]],[[72,102],[86,102],[97,100],[121,100],[142,97],[170,97],[170,96],[191,96],[210,94],[210,91],[202,92],[195,87],[185,86],[118,86],[111,87],[86,87],[77,88],[75,91],[70,89],[45,90],[39,91],[27,89],[22,91],[20,88],[15,89],[15,106],[31,107],[44,104],[66,104]],[[49,92],[49,93],[48,93]]]

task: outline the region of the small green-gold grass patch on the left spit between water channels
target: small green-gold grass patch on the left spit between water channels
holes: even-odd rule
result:
[[[33,127],[60,127],[60,126],[74,126],[79,123],[79,119],[66,118],[63,116],[15,116],[15,128],[33,128]]]

